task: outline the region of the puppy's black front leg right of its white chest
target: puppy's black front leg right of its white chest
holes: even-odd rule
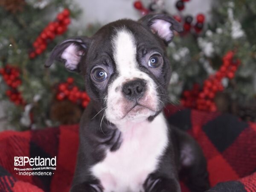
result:
[[[175,178],[150,175],[143,186],[145,192],[181,192],[180,184]]]

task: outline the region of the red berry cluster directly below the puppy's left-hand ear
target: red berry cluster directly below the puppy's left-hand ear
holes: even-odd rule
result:
[[[85,91],[79,90],[77,86],[74,85],[74,79],[69,77],[64,83],[58,85],[58,93],[56,99],[62,101],[68,99],[73,103],[82,105],[83,108],[86,108],[90,98]]]

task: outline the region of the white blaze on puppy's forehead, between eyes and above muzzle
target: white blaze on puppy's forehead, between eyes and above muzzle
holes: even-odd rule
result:
[[[113,38],[114,60],[120,75],[136,70],[136,44],[133,34],[127,29],[121,29]]]

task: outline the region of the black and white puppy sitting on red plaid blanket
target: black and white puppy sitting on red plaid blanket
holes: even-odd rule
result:
[[[169,15],[146,15],[53,49],[46,66],[57,59],[81,73],[91,99],[80,122],[71,192],[180,192],[180,172],[193,192],[208,189],[201,149],[163,114],[173,30],[182,27]]]

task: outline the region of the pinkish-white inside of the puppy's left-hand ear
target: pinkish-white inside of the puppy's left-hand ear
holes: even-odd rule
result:
[[[70,46],[67,47],[61,55],[61,58],[66,60],[65,67],[70,70],[75,70],[79,64],[82,54],[83,53],[81,51],[78,51],[75,44],[70,44]]]

